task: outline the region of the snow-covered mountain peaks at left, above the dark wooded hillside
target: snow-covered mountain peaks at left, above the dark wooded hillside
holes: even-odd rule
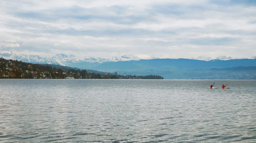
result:
[[[131,60],[140,60],[135,56],[123,55],[120,57],[114,56],[111,58],[95,58],[95,57],[86,57],[83,59],[77,58],[72,54],[63,54],[59,53],[54,55],[52,58],[44,58],[39,55],[27,55],[27,54],[15,54],[9,51],[1,52],[0,57],[4,59],[18,60],[27,63],[38,63],[38,64],[57,64],[61,66],[72,66],[79,63],[104,63],[104,62],[117,62],[117,61],[131,61]]]

